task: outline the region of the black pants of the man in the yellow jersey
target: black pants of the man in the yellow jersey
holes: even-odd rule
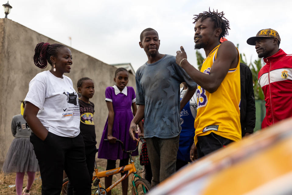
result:
[[[221,137],[213,132],[208,135],[198,136],[198,142],[196,145],[198,158],[216,151],[219,148],[230,144],[231,142],[233,141],[225,137]]]

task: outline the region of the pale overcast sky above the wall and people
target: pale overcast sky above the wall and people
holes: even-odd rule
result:
[[[9,4],[13,7],[9,19],[68,46],[72,37],[73,48],[108,64],[130,62],[135,70],[147,61],[139,41],[141,31],[148,27],[158,32],[160,53],[176,55],[182,45],[188,61],[197,67],[193,15],[209,7],[224,11],[231,28],[226,38],[239,44],[248,62],[257,59],[257,54],[246,40],[264,28],[277,30],[280,48],[292,53],[290,0],[10,0]],[[206,57],[203,49],[199,51]]]

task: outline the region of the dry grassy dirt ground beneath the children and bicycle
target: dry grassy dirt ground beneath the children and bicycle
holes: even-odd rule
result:
[[[137,172],[143,171],[143,166],[140,165],[139,156],[133,157],[133,160],[135,161],[135,166],[137,169]],[[96,160],[97,168],[99,171],[105,171],[106,170],[106,160],[105,159],[97,159]],[[116,167],[119,167],[119,160],[117,160]],[[141,177],[144,178],[144,173],[139,173]],[[11,174],[4,174],[3,172],[0,173],[0,195],[16,195],[16,188],[15,186],[9,187],[10,185],[15,185],[15,176],[16,173]],[[132,193],[132,174],[128,177],[129,179],[129,186],[128,186],[128,195]],[[116,174],[113,176],[113,183],[121,177],[120,174]],[[27,176],[24,176],[23,180],[23,188],[26,186]],[[101,179],[102,186],[104,187],[104,179]],[[33,186],[31,187],[30,194],[31,195],[40,195],[41,194],[41,185],[42,180],[40,178],[40,172],[36,173],[35,181],[33,183]],[[93,186],[95,187],[95,186]],[[92,188],[93,188],[92,187]],[[121,183],[119,183],[116,187],[112,190],[112,195],[118,195],[122,194],[122,186]]]

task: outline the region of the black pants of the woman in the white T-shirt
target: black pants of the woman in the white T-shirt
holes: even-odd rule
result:
[[[70,138],[49,132],[44,141],[31,134],[30,142],[40,166],[42,195],[60,195],[64,170],[76,194],[91,194],[91,179],[85,162],[84,141],[80,134]]]

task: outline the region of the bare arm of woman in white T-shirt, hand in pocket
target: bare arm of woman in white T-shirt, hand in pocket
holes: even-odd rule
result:
[[[36,116],[39,110],[40,109],[38,107],[29,101],[26,101],[23,118],[26,120],[33,133],[41,140],[45,140],[48,135],[48,130],[43,126],[43,124],[40,122],[40,119],[38,119]]]

